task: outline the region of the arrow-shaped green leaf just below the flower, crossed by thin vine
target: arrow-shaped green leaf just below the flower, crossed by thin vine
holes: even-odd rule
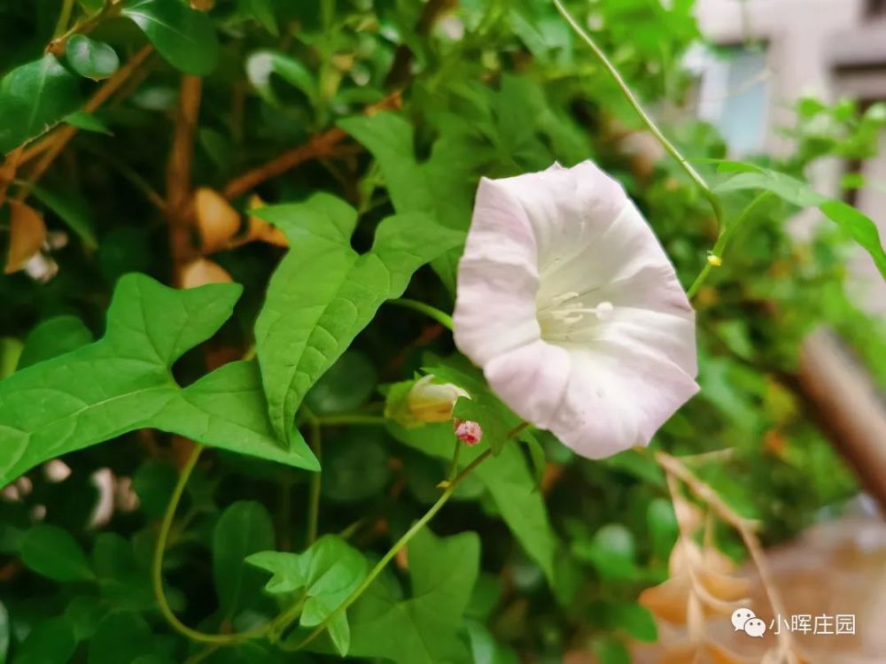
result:
[[[468,388],[470,390],[470,387]],[[419,452],[451,459],[453,448],[452,425],[427,425],[420,429],[406,429],[389,425],[388,430],[400,443]],[[476,459],[477,447],[462,449],[462,466]],[[534,560],[553,586],[556,536],[548,520],[548,508],[540,491],[535,490],[532,473],[526,466],[517,443],[504,446],[497,457],[487,459],[473,472],[491,494],[501,518],[517,537],[525,552]],[[442,478],[441,478],[442,479]]]

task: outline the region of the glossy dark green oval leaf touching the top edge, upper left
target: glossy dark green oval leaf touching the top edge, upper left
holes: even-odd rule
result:
[[[170,65],[184,73],[212,73],[219,58],[212,19],[180,0],[127,0],[120,12],[135,21]]]

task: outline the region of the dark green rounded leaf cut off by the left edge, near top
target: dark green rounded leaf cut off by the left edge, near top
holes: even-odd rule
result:
[[[0,154],[49,131],[82,102],[77,77],[47,53],[0,81]]]

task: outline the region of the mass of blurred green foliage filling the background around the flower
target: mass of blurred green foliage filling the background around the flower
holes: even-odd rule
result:
[[[681,58],[701,39],[691,0],[569,4],[653,114],[667,119],[665,133],[698,160],[699,170],[712,182],[734,177],[713,161],[727,157],[724,143],[684,105],[696,81],[681,68]],[[317,133],[335,126],[346,132],[343,149],[262,181],[255,192],[270,204],[301,202],[317,192],[346,201],[357,226],[351,244],[345,234],[336,250],[345,256],[351,245],[366,251],[382,220],[394,213],[420,216],[437,228],[438,238],[463,232],[481,175],[585,158],[625,185],[684,284],[705,265],[716,240],[710,207],[680,166],[630,149],[628,139],[643,129],[640,121],[544,0],[218,0],[208,13],[180,0],[78,0],[72,25],[96,20],[88,38],[68,42],[66,60],[44,55],[62,8],[59,0],[9,0],[0,7],[0,149],[12,151],[56,123],[80,129],[28,199],[51,231],[67,235],[64,246],[47,250],[58,274],[48,282],[23,272],[0,277],[0,376],[35,365],[51,387],[54,368],[68,367],[71,356],[37,363],[94,348],[83,346],[105,332],[113,290],[127,283],[120,282],[122,274],[172,281],[167,220],[151,197],[166,188],[183,73],[205,76],[194,134],[195,186],[221,191],[238,174]],[[157,53],[110,102],[93,113],[77,112],[101,85],[94,79],[113,75],[112,51],[124,67],[148,42]],[[400,110],[362,113],[395,90],[402,95]],[[869,156],[871,138],[884,124],[882,106],[859,112],[850,102],[828,106],[806,99],[798,105],[796,127],[786,128],[796,151],[787,158],[762,155],[744,167],[802,181],[820,158]],[[26,165],[18,177],[27,180],[30,173]],[[11,195],[20,186],[13,183]],[[734,183],[724,188],[727,218],[756,193]],[[245,195],[233,204],[240,212],[253,207]],[[763,521],[770,542],[796,533],[822,508],[857,490],[797,394],[804,336],[821,324],[835,328],[886,387],[882,321],[859,311],[844,287],[855,222],[822,224],[811,241],[797,242],[787,231],[796,210],[779,197],[759,205],[699,291],[702,390],[654,443],[676,454],[734,450],[728,460],[704,464],[700,475],[738,512]],[[3,243],[8,211],[0,211]],[[291,235],[293,247],[298,242]],[[305,242],[299,251],[313,251]],[[322,244],[323,238],[309,242]],[[432,267],[419,269],[408,287],[409,297],[445,311],[451,310],[458,256],[444,251],[448,246],[423,258],[433,259]],[[166,372],[170,381],[175,374],[189,386],[183,392],[198,389],[194,381],[208,373],[216,377],[214,389],[221,389],[220,370],[209,371],[220,359],[248,354],[282,255],[265,243],[214,254],[244,285],[233,315],[201,350],[188,351],[221,325],[223,315],[198,320],[206,329],[190,344],[166,330],[182,359],[170,370],[177,357],[170,354],[144,371]],[[410,265],[403,278],[415,268]],[[325,277],[321,269],[302,278],[311,290],[310,280],[323,285]],[[144,288],[160,288],[139,279],[148,284]],[[299,319],[299,312],[285,309],[289,291],[272,285],[270,293],[280,298],[279,310]],[[375,295],[379,303],[388,297],[381,287]],[[169,300],[164,306],[142,321],[147,336],[176,305]],[[291,449],[269,457],[243,444],[234,449],[253,456],[207,453],[184,488],[163,569],[169,604],[186,624],[212,634],[254,629],[304,589],[313,613],[306,602],[300,624],[276,623],[284,645],[298,643],[439,498],[436,485],[452,455],[449,425],[404,429],[380,427],[373,419],[380,417],[379,390],[387,383],[409,379],[422,367],[455,370],[440,359],[453,353],[453,345],[418,313],[383,307],[376,315],[374,307],[362,325],[337,337],[336,354],[311,367],[299,399],[284,408],[287,417],[273,422],[279,436],[294,414],[292,404],[308,388],[301,434],[292,434],[292,444],[305,445],[301,435],[310,438],[313,421],[355,412],[366,419],[362,426],[323,426],[322,452],[315,445],[323,467],[319,530],[328,535],[302,552],[311,474],[258,458],[282,459]],[[295,320],[292,329],[303,324]],[[105,370],[128,380],[120,368]],[[248,379],[232,373],[222,376],[225,394]],[[35,380],[36,374],[21,375]],[[7,391],[19,384],[7,380]],[[98,378],[84,368],[70,380]],[[236,411],[233,403],[215,401],[214,416]],[[144,401],[136,399],[135,407],[144,408]],[[0,413],[3,408],[0,400]],[[402,664],[502,664],[529,655],[556,662],[574,650],[612,664],[629,660],[626,639],[656,638],[655,623],[636,598],[667,575],[677,537],[664,476],[649,455],[625,452],[590,462],[537,432],[529,447],[507,445],[458,486],[432,532],[425,529],[408,546],[408,560],[398,558],[349,609],[344,625],[338,621],[334,643],[324,636],[310,652],[298,653],[263,639],[225,647],[195,643],[170,628],[151,588],[152,550],[183,445],[159,431],[120,433],[150,423],[139,415],[132,426],[106,434],[113,442],[66,453],[70,475],[58,479],[38,467],[0,498],[0,661],[320,662],[338,659],[334,647],[349,647],[350,657]],[[507,421],[507,413],[489,416]],[[12,444],[6,424],[0,421],[3,446]],[[250,426],[259,436],[273,436],[267,421]],[[199,437],[192,428],[165,427]],[[533,445],[547,456],[541,487]],[[462,461],[478,453],[465,452]],[[302,459],[293,465],[310,464]],[[99,492],[91,478],[104,469],[117,478],[114,509],[109,520],[97,521]],[[136,508],[127,500],[131,490]],[[731,537],[724,534],[720,544],[738,554]],[[274,549],[302,553],[260,553]],[[268,582],[267,574],[246,565],[247,557],[273,578]],[[262,592],[265,583],[269,593]]]

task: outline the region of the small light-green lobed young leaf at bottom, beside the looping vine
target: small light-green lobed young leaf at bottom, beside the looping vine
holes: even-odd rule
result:
[[[304,553],[265,551],[246,562],[273,575],[265,587],[268,592],[299,592],[306,599],[300,618],[303,627],[315,627],[326,620],[369,571],[362,553],[335,535],[324,535]],[[329,632],[338,654],[344,657],[351,641],[346,613],[330,622]]]

